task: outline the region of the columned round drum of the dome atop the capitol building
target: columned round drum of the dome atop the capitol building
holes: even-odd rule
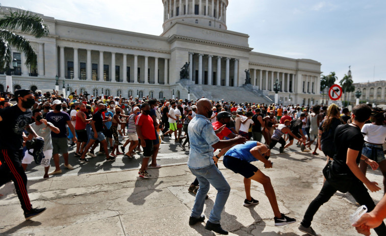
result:
[[[226,30],[228,0],[162,0],[164,32],[175,21]]]

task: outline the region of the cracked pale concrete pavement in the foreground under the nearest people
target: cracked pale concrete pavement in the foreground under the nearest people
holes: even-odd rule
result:
[[[268,198],[262,185],[254,181],[251,194],[260,204],[244,207],[243,177],[220,162],[231,187],[221,225],[230,235],[305,235],[297,227],[321,189],[325,158],[283,153],[270,160],[272,169],[254,164],[271,178],[280,211],[298,222],[275,227]],[[130,170],[29,180],[33,206],[47,207],[29,221],[23,218],[13,183],[7,183],[0,189],[5,195],[0,198],[0,235],[215,235],[204,229],[204,224],[188,224],[195,196],[188,192],[194,176],[186,165],[148,172],[152,175],[149,179],[140,179],[138,170]],[[381,185],[379,171],[367,175]],[[376,202],[382,195],[383,191],[371,193]],[[211,187],[204,208],[207,219],[215,197],[216,190]],[[351,196],[337,193],[320,208],[312,226],[320,235],[358,235],[348,220],[356,208]]]

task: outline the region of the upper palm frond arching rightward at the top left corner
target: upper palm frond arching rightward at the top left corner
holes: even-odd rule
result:
[[[49,34],[48,25],[43,24],[43,19],[30,11],[16,11],[4,14],[0,18],[0,29],[19,29],[23,33],[41,38]]]

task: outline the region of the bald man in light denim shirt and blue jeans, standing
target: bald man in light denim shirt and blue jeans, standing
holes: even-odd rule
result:
[[[217,190],[217,196],[205,229],[220,234],[228,234],[228,231],[221,228],[220,219],[221,212],[229,196],[230,187],[213,161],[213,151],[214,149],[222,149],[235,144],[245,143],[246,139],[237,136],[234,139],[220,140],[216,133],[221,132],[225,125],[214,130],[209,120],[212,117],[212,113],[212,103],[210,100],[201,98],[197,102],[197,115],[190,121],[188,126],[190,139],[188,167],[197,177],[200,185],[192,208],[189,225],[204,221],[205,216],[201,215],[201,213],[205,197],[210,185],[212,185]]]

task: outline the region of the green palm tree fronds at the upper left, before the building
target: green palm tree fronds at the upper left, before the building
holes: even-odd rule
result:
[[[1,6],[0,6],[1,7]],[[2,12],[0,18],[0,68],[9,70],[12,62],[11,47],[24,53],[25,65],[36,69],[37,56],[30,41],[17,33],[29,34],[41,38],[49,34],[48,25],[43,19],[30,11]],[[17,32],[17,33],[15,33]]]

